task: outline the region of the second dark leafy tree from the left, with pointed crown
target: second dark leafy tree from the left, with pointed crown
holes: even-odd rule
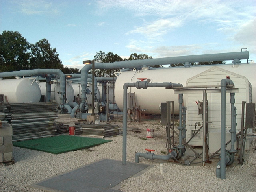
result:
[[[59,59],[56,48],[51,48],[47,39],[41,39],[35,44],[31,44],[30,63],[33,68],[62,69],[63,65]]]

